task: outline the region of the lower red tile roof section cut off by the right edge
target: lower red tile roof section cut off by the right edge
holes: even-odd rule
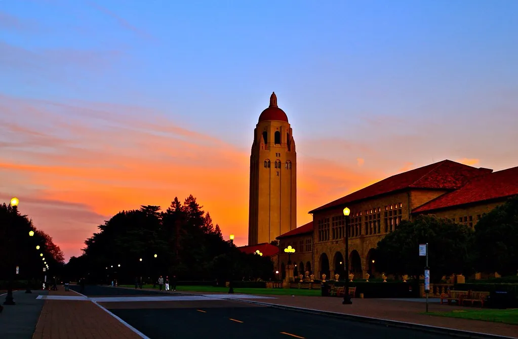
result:
[[[518,195],[518,167],[478,176],[463,187],[414,209],[413,213]]]

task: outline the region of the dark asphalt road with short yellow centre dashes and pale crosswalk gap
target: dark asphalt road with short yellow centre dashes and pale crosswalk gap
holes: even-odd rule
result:
[[[91,286],[89,296],[152,295],[160,292]],[[132,292],[132,293],[130,293]],[[161,293],[164,295],[164,293]],[[445,338],[447,336],[235,301],[103,303],[152,339],[160,338]]]

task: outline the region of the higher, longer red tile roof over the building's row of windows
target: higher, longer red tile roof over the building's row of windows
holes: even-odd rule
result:
[[[442,160],[435,164],[390,176],[389,178],[309,211],[309,213],[343,206],[346,203],[364,200],[406,188],[457,189],[462,187],[471,178],[491,173],[492,171],[491,169],[471,167],[451,160]]]

